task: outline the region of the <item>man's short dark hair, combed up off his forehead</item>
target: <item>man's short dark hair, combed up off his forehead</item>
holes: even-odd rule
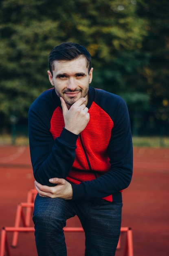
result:
[[[55,46],[55,48],[50,52],[48,58],[51,74],[53,75],[53,70],[55,68],[53,64],[54,61],[71,61],[81,55],[86,58],[88,72],[90,72],[92,67],[91,55],[83,45],[79,45],[77,43],[61,43],[60,45]]]

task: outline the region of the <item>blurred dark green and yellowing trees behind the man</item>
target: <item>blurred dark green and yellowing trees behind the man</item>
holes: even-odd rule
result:
[[[134,144],[169,146],[168,14],[168,0],[1,0],[0,142],[27,138],[48,54],[76,42],[92,55],[91,86],[125,99]]]

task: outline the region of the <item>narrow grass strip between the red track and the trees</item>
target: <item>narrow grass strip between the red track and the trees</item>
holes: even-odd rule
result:
[[[11,137],[11,135],[0,135],[0,146],[2,145],[29,145],[29,139],[25,136]],[[134,147],[169,148],[169,137],[133,137]]]

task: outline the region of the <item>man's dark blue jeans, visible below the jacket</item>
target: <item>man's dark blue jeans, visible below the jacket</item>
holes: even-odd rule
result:
[[[33,222],[38,256],[66,256],[63,227],[79,217],[85,231],[85,256],[113,256],[119,240],[122,203],[102,199],[71,201],[37,195]]]

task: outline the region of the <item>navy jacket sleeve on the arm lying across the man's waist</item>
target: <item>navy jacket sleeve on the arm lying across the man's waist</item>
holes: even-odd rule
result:
[[[133,169],[133,149],[129,114],[123,99],[116,105],[113,121],[114,127],[108,147],[110,171],[95,180],[79,185],[72,184],[72,200],[104,198],[129,186]]]

